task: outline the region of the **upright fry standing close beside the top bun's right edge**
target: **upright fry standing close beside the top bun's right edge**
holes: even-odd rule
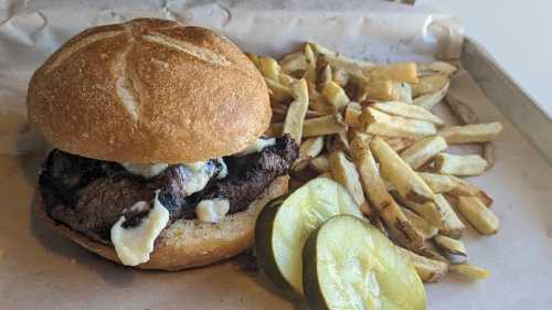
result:
[[[291,93],[294,94],[295,100],[287,109],[283,132],[289,133],[296,143],[300,143],[302,138],[302,125],[309,105],[307,82],[300,79],[291,84]]]

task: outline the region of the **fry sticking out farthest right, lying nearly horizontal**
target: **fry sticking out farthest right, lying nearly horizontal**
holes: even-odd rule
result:
[[[449,145],[479,143],[495,140],[500,131],[502,131],[502,125],[495,121],[488,124],[446,127],[439,131],[439,136],[445,138]]]

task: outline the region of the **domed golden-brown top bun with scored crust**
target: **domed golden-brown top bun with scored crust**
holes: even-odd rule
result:
[[[156,19],[71,39],[34,73],[26,104],[52,146],[135,163],[238,152],[272,116],[264,79],[237,46]]]

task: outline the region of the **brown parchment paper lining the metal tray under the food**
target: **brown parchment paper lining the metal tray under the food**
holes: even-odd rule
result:
[[[32,193],[47,147],[26,125],[30,74],[78,31],[137,17],[210,26],[262,54],[277,56],[310,40],[375,62],[455,60],[461,24],[388,1],[0,1],[0,309],[305,309],[241,259],[182,272],[124,268],[34,216]],[[428,309],[550,309],[552,169],[468,74],[450,92],[482,121],[505,124],[495,169],[473,180],[495,197],[502,225],[497,236],[468,231],[466,237],[471,263],[490,278],[428,285]]]

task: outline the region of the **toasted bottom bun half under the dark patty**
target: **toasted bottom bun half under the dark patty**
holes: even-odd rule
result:
[[[273,199],[287,193],[288,177],[273,181],[247,210],[226,215],[216,224],[197,220],[179,220],[158,237],[149,261],[141,269],[180,270],[205,266],[233,257],[253,245],[255,221],[261,210]],[[53,221],[45,212],[42,195],[35,195],[35,209],[49,226],[95,254],[121,264],[115,248],[92,240],[67,225]]]

